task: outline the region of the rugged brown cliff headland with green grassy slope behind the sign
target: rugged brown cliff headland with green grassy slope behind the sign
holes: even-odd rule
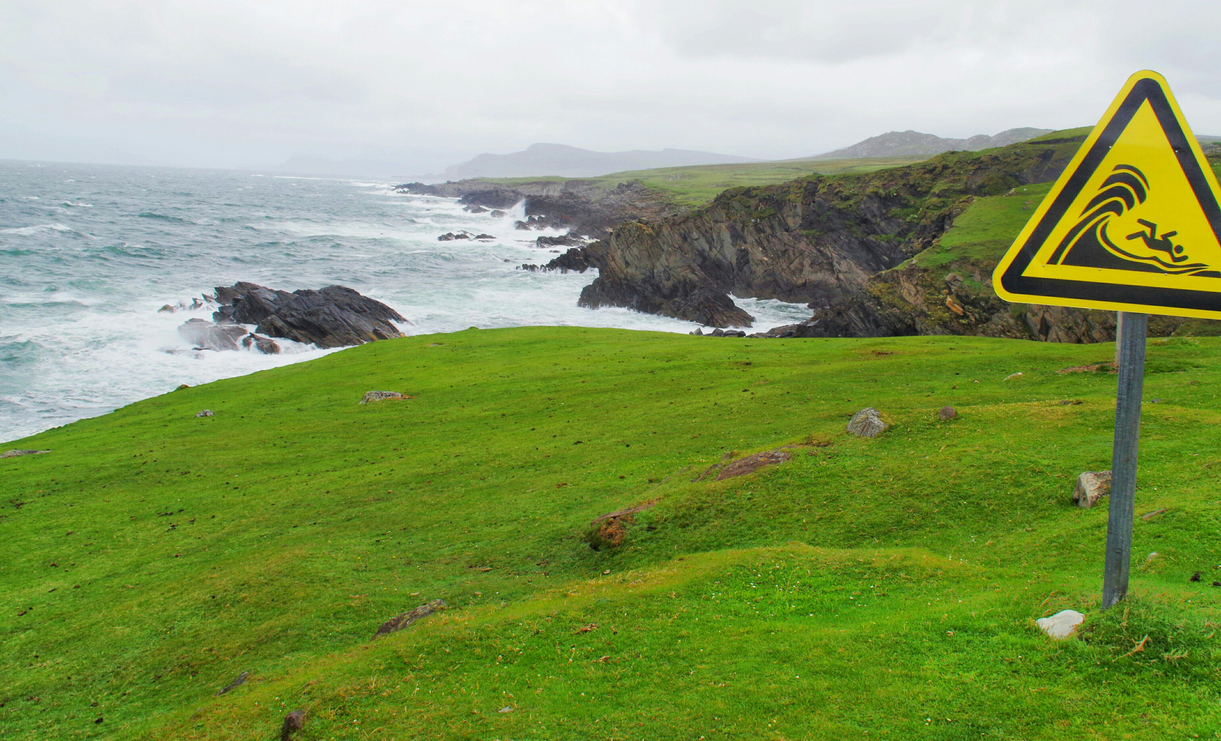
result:
[[[773,336],[1112,339],[1109,313],[1011,306],[990,286],[1005,248],[1088,133],[734,188],[685,214],[624,223],[585,248],[601,273],[580,303],[722,327],[753,324],[730,294],[810,304],[810,321]],[[1181,324],[1155,320],[1151,331]]]

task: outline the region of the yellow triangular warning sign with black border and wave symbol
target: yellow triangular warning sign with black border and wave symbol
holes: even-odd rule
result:
[[[1221,319],[1221,188],[1165,78],[1137,72],[993,273],[1010,302]]]

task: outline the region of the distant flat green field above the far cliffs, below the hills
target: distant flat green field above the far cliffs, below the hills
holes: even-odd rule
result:
[[[619,183],[640,181],[667,200],[680,206],[698,206],[717,197],[726,188],[739,186],[773,186],[808,175],[842,175],[874,172],[888,167],[900,167],[927,160],[927,156],[873,157],[856,160],[786,160],[779,162],[745,162],[736,165],[696,165],[690,167],[658,167],[615,172],[592,178],[518,177],[481,178],[492,183],[521,184],[543,179],[579,179],[596,182],[607,190]]]

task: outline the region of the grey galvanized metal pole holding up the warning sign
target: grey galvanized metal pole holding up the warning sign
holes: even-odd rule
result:
[[[1140,438],[1140,394],[1144,387],[1148,314],[1120,313],[1120,385],[1115,393],[1115,447],[1111,452],[1111,505],[1106,521],[1106,568],[1103,609],[1128,593],[1132,565],[1132,515],[1137,492],[1137,446]]]

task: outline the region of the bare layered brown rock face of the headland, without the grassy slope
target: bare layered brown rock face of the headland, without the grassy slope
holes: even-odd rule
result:
[[[827,317],[844,316],[849,334],[873,325],[885,331],[889,324],[875,313],[857,311],[871,277],[932,247],[971,197],[1054,179],[1083,139],[1045,138],[868,175],[735,188],[689,214],[624,223],[586,248],[601,275],[580,304],[750,326],[728,295],[734,293],[808,303]]]

